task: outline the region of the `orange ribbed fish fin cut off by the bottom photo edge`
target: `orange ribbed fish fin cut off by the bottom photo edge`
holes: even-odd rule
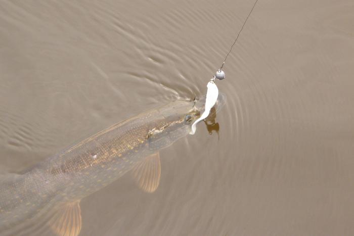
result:
[[[60,206],[49,225],[58,236],[77,236],[81,230],[80,201]]]

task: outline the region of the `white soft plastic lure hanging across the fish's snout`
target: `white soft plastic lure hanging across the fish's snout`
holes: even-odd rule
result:
[[[215,105],[217,96],[219,95],[219,90],[217,89],[216,84],[212,80],[208,82],[206,87],[208,88],[208,90],[206,91],[205,110],[203,114],[199,117],[199,119],[194,121],[194,123],[192,124],[192,130],[189,134],[194,134],[197,130],[198,122],[208,117],[210,109]]]

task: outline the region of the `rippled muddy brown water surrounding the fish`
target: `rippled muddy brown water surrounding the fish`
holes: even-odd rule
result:
[[[2,1],[0,171],[201,96],[253,1]],[[81,201],[80,235],[353,235],[354,2],[259,0],[210,135]]]

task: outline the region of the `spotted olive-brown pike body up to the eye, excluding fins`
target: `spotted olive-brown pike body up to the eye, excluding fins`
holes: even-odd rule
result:
[[[79,201],[186,136],[190,125],[185,124],[185,117],[197,114],[193,105],[177,101],[132,117],[44,160],[12,181],[0,182],[0,230],[39,217],[58,203]]]

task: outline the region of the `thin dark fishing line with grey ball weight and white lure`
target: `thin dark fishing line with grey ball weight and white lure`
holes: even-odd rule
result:
[[[195,131],[197,130],[197,123],[199,121],[201,121],[201,120],[204,120],[206,117],[208,117],[208,115],[210,113],[210,109],[215,105],[215,103],[217,101],[218,94],[219,94],[219,90],[217,89],[217,86],[215,84],[215,79],[218,79],[218,80],[225,79],[225,72],[222,71],[223,66],[224,66],[224,64],[226,62],[226,59],[228,59],[228,56],[230,55],[232,49],[234,48],[234,45],[236,44],[237,39],[239,38],[243,28],[245,27],[245,24],[246,24],[249,16],[251,15],[254,7],[256,6],[257,2],[258,2],[258,0],[256,0],[254,2],[251,11],[248,13],[248,16],[247,16],[245,22],[243,22],[243,25],[242,25],[240,31],[238,32],[234,43],[231,45],[231,48],[230,48],[228,54],[226,55],[223,64],[220,66],[220,69],[218,69],[216,71],[215,75],[207,83],[207,85],[206,85],[207,86],[207,91],[206,91],[206,98],[205,98],[205,109],[204,109],[203,114],[199,117],[199,119],[194,121],[194,123],[192,124],[190,134],[194,134],[195,133]]]

